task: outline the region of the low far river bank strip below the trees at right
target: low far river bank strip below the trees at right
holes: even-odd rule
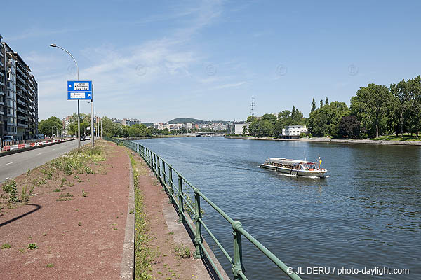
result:
[[[269,141],[305,141],[305,142],[324,142],[324,143],[340,143],[340,144],[375,144],[375,145],[406,145],[421,146],[421,141],[390,141],[390,140],[370,140],[370,139],[331,139],[327,137],[312,137],[299,139],[278,139],[271,137],[243,137],[243,136],[226,136],[228,139],[249,139],[249,140],[269,140]]]

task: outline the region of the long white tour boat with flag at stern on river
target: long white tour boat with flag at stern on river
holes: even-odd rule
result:
[[[326,177],[328,170],[321,168],[321,158],[319,165],[307,160],[290,160],[288,158],[267,158],[260,167],[272,169],[276,172],[282,172],[296,176],[316,176]]]

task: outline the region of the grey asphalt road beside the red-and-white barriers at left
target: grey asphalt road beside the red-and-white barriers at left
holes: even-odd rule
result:
[[[81,141],[81,145],[88,144],[88,142],[91,143],[90,141]],[[77,148],[77,140],[0,157],[0,183],[6,181],[7,178],[15,178],[27,172],[28,169],[44,165],[74,148]]]

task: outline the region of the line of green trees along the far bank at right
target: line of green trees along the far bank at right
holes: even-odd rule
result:
[[[303,118],[301,111],[281,111],[278,116],[265,114],[261,118],[249,116],[250,126],[246,132],[258,137],[279,137],[287,125],[306,125],[309,136],[333,138],[380,137],[385,134],[415,134],[421,128],[421,77],[417,76],[399,83],[385,85],[368,84],[360,87],[351,98],[348,107],[345,102],[329,102],[328,97],[312,100],[309,118]]]

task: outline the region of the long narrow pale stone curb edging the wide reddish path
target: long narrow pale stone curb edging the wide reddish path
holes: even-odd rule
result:
[[[133,168],[130,157],[128,158],[129,188],[128,188],[128,207],[126,218],[126,231],[124,233],[123,255],[121,258],[120,279],[134,279],[135,267],[135,184],[133,181]],[[131,214],[131,211],[132,214]]]

